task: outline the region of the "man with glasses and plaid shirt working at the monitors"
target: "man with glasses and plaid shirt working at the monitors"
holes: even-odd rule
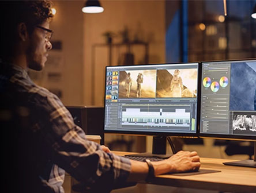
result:
[[[116,184],[145,180],[150,163],[116,156],[86,140],[58,97],[29,78],[28,68],[42,70],[52,48],[51,2],[1,1],[0,7],[0,122],[6,180],[2,188],[64,192],[65,172],[80,182],[77,188],[83,192],[109,192]],[[152,165],[151,177],[197,170],[200,163],[196,152],[179,152]]]

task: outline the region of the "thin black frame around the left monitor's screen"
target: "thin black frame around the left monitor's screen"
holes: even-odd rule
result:
[[[198,73],[197,73],[197,121],[195,133],[170,133],[170,132],[135,132],[135,131],[121,131],[121,130],[105,130],[105,114],[106,114],[106,85],[107,85],[107,68],[108,67],[131,67],[134,65],[107,65],[105,68],[105,92],[104,92],[104,133],[112,134],[128,134],[135,136],[174,136],[174,137],[189,137],[189,138],[198,138],[199,132],[199,116],[200,116],[200,104],[201,101],[201,63],[198,61],[195,62],[178,62],[178,63],[153,63],[153,64],[137,64],[135,66],[145,66],[145,65],[175,65],[175,64],[197,64]]]

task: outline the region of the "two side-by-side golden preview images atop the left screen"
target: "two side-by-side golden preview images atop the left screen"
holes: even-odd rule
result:
[[[119,72],[119,98],[195,98],[197,69]]]

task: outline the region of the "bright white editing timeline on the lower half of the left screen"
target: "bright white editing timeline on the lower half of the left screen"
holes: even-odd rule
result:
[[[195,110],[195,109],[193,109]],[[195,118],[190,105],[122,105],[122,127],[195,131]]]

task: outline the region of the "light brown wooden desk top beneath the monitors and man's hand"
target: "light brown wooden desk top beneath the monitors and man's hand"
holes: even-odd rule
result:
[[[113,153],[119,156],[131,154],[128,152],[116,151],[113,151]],[[223,162],[225,161],[234,160],[210,159],[204,157],[200,160],[202,169],[214,169],[221,172],[192,176],[159,175],[150,183],[203,190],[256,192],[256,168],[223,165]]]

